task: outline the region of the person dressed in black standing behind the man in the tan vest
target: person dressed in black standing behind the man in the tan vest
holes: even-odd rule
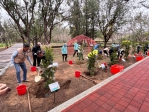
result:
[[[37,57],[37,52],[41,51],[40,47],[40,42],[37,43],[37,46],[34,46],[32,49],[32,55],[33,55],[33,66],[36,66],[36,61],[37,61],[37,66],[40,66],[41,59]]]

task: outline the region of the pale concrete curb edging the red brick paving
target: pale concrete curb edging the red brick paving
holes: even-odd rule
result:
[[[94,92],[95,90],[101,88],[102,86],[106,85],[107,83],[111,82],[112,80],[116,79],[117,77],[121,76],[123,73],[125,73],[126,71],[132,69],[133,67],[135,67],[136,65],[140,64],[141,62],[145,61],[146,59],[148,59],[148,57],[142,59],[141,61],[139,62],[136,62],[134,63],[133,65],[127,67],[126,69],[124,69],[123,71],[107,78],[106,80],[100,82],[99,84],[87,89],[86,91],[78,94],[77,96],[69,99],[68,101],[58,105],[57,107],[49,110],[48,112],[61,112],[63,111],[64,109],[68,108],[69,106],[73,105],[74,103],[76,103],[77,101],[81,100],[82,98],[86,97],[87,95],[91,94],[92,92]]]

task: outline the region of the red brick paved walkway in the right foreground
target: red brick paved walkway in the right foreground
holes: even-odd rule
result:
[[[149,58],[62,112],[149,112]]]

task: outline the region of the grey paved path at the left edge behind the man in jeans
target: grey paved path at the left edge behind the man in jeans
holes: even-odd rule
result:
[[[0,75],[3,74],[4,69],[8,68],[8,64],[10,62],[11,54],[17,48],[20,48],[22,46],[23,46],[22,43],[17,43],[17,44],[14,44],[12,47],[0,52]]]

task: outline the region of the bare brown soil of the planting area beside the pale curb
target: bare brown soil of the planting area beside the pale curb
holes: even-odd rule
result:
[[[85,51],[86,54],[87,52],[88,50]],[[47,112],[48,110],[51,110],[52,108],[91,88],[96,83],[100,83],[101,81],[112,76],[109,66],[106,71],[99,69],[97,66],[96,75],[88,76],[87,60],[83,60],[81,63],[78,63],[77,57],[72,57],[71,52],[71,54],[68,55],[68,61],[72,60],[73,64],[70,65],[68,62],[62,61],[62,56],[60,53],[61,52],[59,48],[54,49],[54,62],[58,62],[59,64],[55,73],[55,81],[58,81],[60,85],[60,90],[55,92],[55,100],[54,93],[51,93],[49,88],[44,88],[45,82],[43,79],[37,83],[34,81],[35,76],[37,76],[37,72],[31,72],[31,66],[26,61],[28,69],[27,79],[30,81],[23,84],[26,84],[28,87],[32,112]],[[109,58],[104,57],[103,60],[99,60],[99,63],[103,62],[108,63]],[[123,64],[126,68],[135,62],[136,61],[130,57],[127,62],[119,62],[119,64]],[[76,78],[74,74],[75,71],[81,71],[81,75],[90,78],[96,83],[82,76]],[[0,111],[29,112],[27,94],[22,96],[17,94],[16,87],[18,84],[16,80],[15,69],[13,67],[9,67],[6,73],[0,77],[0,83],[6,83],[11,88],[11,91],[8,93],[8,95],[5,97],[0,97]]]

